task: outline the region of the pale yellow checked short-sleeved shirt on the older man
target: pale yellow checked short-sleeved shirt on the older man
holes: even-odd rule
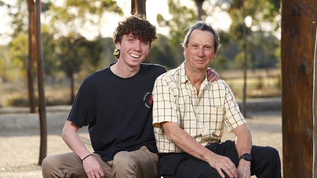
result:
[[[233,92],[223,80],[208,82],[205,77],[197,97],[184,63],[160,75],[154,84],[153,125],[160,153],[183,152],[167,139],[162,122],[178,123],[203,146],[220,141],[224,123],[229,131],[246,124]]]

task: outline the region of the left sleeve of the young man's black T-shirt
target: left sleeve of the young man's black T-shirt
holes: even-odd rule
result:
[[[80,85],[67,120],[79,127],[93,123],[96,118],[95,93],[93,87],[89,81],[87,81],[87,78],[84,79]]]

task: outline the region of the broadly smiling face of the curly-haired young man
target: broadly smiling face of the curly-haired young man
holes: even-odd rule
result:
[[[120,50],[118,63],[129,67],[139,67],[149,51],[150,43],[149,41],[141,41],[130,33],[123,35],[121,42],[116,43],[116,47]]]

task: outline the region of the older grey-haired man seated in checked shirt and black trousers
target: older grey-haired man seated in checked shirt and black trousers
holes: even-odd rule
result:
[[[185,61],[156,80],[153,125],[164,178],[281,178],[275,148],[252,146],[251,132],[229,86],[206,80],[218,35],[203,21],[187,33]],[[224,123],[236,142],[220,143]]]

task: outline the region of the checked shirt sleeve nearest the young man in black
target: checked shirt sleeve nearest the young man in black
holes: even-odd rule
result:
[[[158,77],[153,88],[153,126],[161,128],[162,122],[179,124],[176,97],[170,84]]]

